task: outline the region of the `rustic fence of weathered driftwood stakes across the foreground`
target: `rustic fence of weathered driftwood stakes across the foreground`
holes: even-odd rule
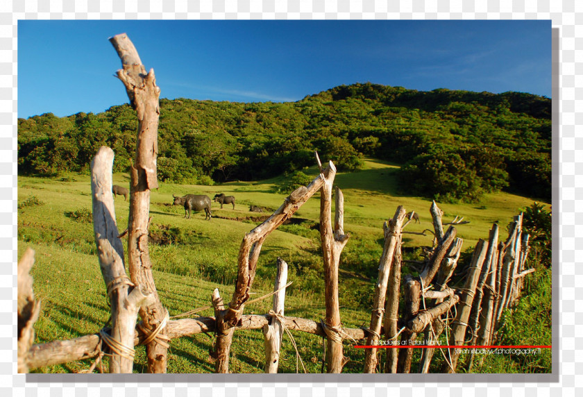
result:
[[[18,371],[95,358],[90,371],[101,364],[103,355],[110,355],[110,373],[130,373],[133,370],[134,346],[146,346],[148,371],[165,373],[167,349],[172,339],[214,332],[214,353],[217,373],[229,372],[229,351],[233,332],[242,329],[262,329],[266,352],[267,373],[278,371],[279,350],[284,332],[309,332],[326,338],[326,369],[340,373],[346,358],[344,341],[366,346],[399,344],[388,349],[384,368],[379,365],[378,348],[367,348],[364,373],[384,371],[409,373],[413,346],[423,335],[425,344],[437,341],[444,330],[450,345],[487,345],[494,341],[503,310],[511,307],[521,295],[522,278],[533,269],[525,270],[528,236],[522,237],[522,216],[515,217],[509,236],[498,243],[498,225],[494,224],[489,239],[480,239],[471,263],[464,271],[464,285],[450,286],[462,248],[454,226],[468,223],[456,217],[443,223],[442,212],[432,203],[430,213],[434,224],[434,246],[423,261],[419,276],[405,275],[402,280],[401,242],[404,228],[414,219],[402,206],[385,223],[385,245],[380,257],[378,283],[373,298],[373,311],[368,328],[341,326],[338,296],[338,267],[341,251],[350,236],[344,232],[344,196],[335,188],[335,212],[332,223],[332,188],[336,168],[328,162],[324,168],[316,153],[320,174],[312,183],[290,194],[271,217],[247,233],[239,249],[235,292],[228,303],[218,289],[212,294],[214,316],[169,319],[160,302],[151,272],[148,251],[149,194],[158,187],[155,158],[158,146],[158,96],[153,70],[146,73],[137,51],[126,35],[110,39],[123,68],[117,76],[124,83],[139,120],[137,150],[130,171],[130,214],[128,230],[119,233],[115,223],[112,198],[113,151],[102,147],[91,164],[94,233],[99,264],[111,306],[110,323],[94,335],[66,341],[33,345],[33,326],[40,312],[35,301],[33,282],[28,271],[33,266],[34,253],[26,251],[18,263]],[[269,234],[294,215],[313,194],[321,193],[320,234],[323,248],[326,317],[312,321],[285,316],[287,264],[278,260],[274,282],[273,309],[264,315],[244,314],[251,294],[257,259]],[[443,226],[450,226],[443,231]],[[124,264],[121,238],[128,238],[128,270]],[[401,289],[404,310],[399,312]],[[455,309],[455,310],[453,310]],[[191,314],[194,314],[193,311]],[[457,313],[454,319],[448,313]],[[138,316],[140,322],[136,324]],[[444,318],[445,316],[445,318]],[[291,334],[289,334],[291,335]],[[468,337],[469,335],[469,337]],[[366,340],[365,340],[366,339]],[[292,338],[293,341],[293,338]],[[405,346],[405,347],[403,347]],[[456,349],[425,348],[419,362],[419,372],[427,373],[435,351],[445,357],[444,372],[455,372],[459,353]],[[445,351],[444,351],[445,350]],[[470,362],[469,365],[472,365]]]

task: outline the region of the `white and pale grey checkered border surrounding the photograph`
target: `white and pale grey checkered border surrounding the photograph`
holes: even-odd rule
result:
[[[18,19],[551,19],[553,27],[553,373],[537,378],[322,378],[257,382],[251,375],[31,380],[16,370]],[[577,125],[580,127],[577,128]],[[579,0],[64,0],[0,2],[0,394],[18,396],[533,396],[583,389],[583,2]],[[579,215],[582,214],[582,215]],[[577,232],[577,230],[579,230]],[[577,248],[578,247],[578,248]],[[579,287],[577,287],[579,286]],[[577,292],[578,291],[578,292]],[[582,336],[579,337],[579,333]],[[100,376],[100,375],[97,375]],[[146,375],[147,376],[147,375]],[[189,378],[191,376],[192,378]],[[341,375],[342,376],[342,375]],[[46,379],[46,378],[45,378]],[[279,378],[282,379],[282,378]],[[401,378],[402,380],[403,378]],[[103,381],[102,381],[103,380]],[[326,380],[326,382],[324,382]],[[414,380],[414,382],[413,382]],[[487,380],[487,382],[485,381]],[[502,382],[500,382],[502,381]]]

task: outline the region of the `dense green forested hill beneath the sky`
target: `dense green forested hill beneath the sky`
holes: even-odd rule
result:
[[[19,174],[87,172],[99,146],[125,171],[137,119],[129,105],[99,114],[18,120]],[[161,180],[255,180],[314,164],[341,170],[369,156],[403,164],[404,193],[478,199],[511,189],[550,201],[551,101],[519,92],[421,92],[341,85],[301,101],[233,103],[161,99]]]

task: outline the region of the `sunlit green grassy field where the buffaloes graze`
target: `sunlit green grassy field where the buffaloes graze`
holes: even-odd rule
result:
[[[378,160],[366,160],[365,169],[350,174],[338,174],[336,184],[344,192],[345,231],[350,233],[340,271],[340,303],[344,326],[359,327],[370,322],[372,294],[382,252],[382,223],[389,219],[398,205],[419,213],[421,223],[410,223],[407,230],[421,232],[432,229],[425,198],[399,196],[396,193],[395,171],[398,166]],[[305,171],[316,176],[316,168]],[[114,183],[128,187],[127,174],[114,175]],[[259,205],[276,210],[285,194],[276,194],[284,177],[260,182],[234,182],[215,186],[175,185],[161,183],[151,192],[150,254],[154,277],[162,303],[171,316],[209,305],[210,294],[219,288],[221,296],[230,299],[237,274],[237,253],[245,233],[260,223],[248,206]],[[235,209],[212,203],[213,219],[205,221],[203,212],[184,219],[182,207],[172,206],[172,194],[234,195]],[[33,267],[35,293],[42,299],[42,314],[37,321],[36,343],[54,339],[69,339],[98,332],[108,319],[105,285],[95,255],[91,223],[90,177],[68,174],[59,178],[18,179],[18,251],[27,247],[36,251]],[[487,238],[494,221],[505,226],[518,214],[519,208],[532,204],[529,198],[512,194],[487,195],[478,204],[439,203],[445,212],[443,221],[456,215],[470,221],[457,227],[466,250],[479,238]],[[115,199],[118,227],[124,230],[128,219],[128,201]],[[263,215],[268,215],[267,212]],[[319,321],[324,317],[323,277],[319,232],[319,194],[311,198],[294,218],[296,223],[281,226],[264,243],[257,277],[253,285],[255,296],[273,288],[276,258],[289,264],[289,280],[285,313]],[[504,230],[504,228],[502,228]],[[501,237],[505,238],[502,232]],[[432,233],[405,235],[404,246],[430,246]],[[415,255],[413,252],[411,255]],[[407,270],[407,269],[406,269]],[[410,269],[409,269],[410,270]],[[550,278],[549,278],[550,280]],[[550,296],[550,288],[549,288]],[[246,307],[246,313],[265,313],[271,299]],[[212,311],[200,315],[212,315]],[[322,339],[301,332],[294,337],[307,370],[321,371]],[[208,352],[212,336],[197,335],[172,341],[169,352],[169,372],[212,372]],[[363,349],[350,348],[350,362],[345,372],[361,372]],[[284,337],[280,372],[296,371],[296,353]],[[135,371],[145,371],[144,348],[137,348]],[[436,365],[439,360],[436,360]],[[89,362],[77,362],[40,369],[42,372],[71,372],[86,369]],[[300,366],[301,367],[301,366]],[[492,365],[500,371],[514,372],[512,367]],[[262,372],[264,368],[263,335],[260,330],[235,332],[230,369],[233,372]]]

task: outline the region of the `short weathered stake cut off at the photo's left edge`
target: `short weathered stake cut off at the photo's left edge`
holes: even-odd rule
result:
[[[35,300],[33,278],[30,275],[35,262],[35,251],[27,248],[18,261],[18,373],[27,373],[30,368],[28,351],[35,339],[34,325],[40,314],[40,301]]]

